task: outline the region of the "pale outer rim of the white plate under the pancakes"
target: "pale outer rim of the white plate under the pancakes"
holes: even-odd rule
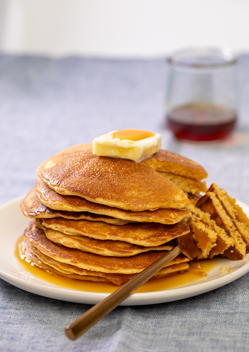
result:
[[[13,206],[13,207],[17,205],[19,206],[19,203],[23,199],[23,197],[24,196],[15,197],[14,199],[2,204],[0,206],[0,214],[9,206]],[[239,200],[237,200],[237,203],[242,208],[244,208],[244,211],[248,210],[249,212],[249,206],[247,204]],[[29,218],[26,218],[26,219],[28,220]],[[0,236],[1,236],[1,233],[0,233]],[[19,238],[19,234],[17,234],[16,240],[18,238]],[[249,258],[249,253],[246,256],[247,258]],[[240,261],[237,260],[236,263],[238,262]],[[42,285],[41,283],[25,280],[23,277],[16,277],[10,272],[3,270],[2,266],[3,266],[3,260],[0,260],[0,278],[2,278],[4,281],[20,289],[23,289],[30,293],[38,294],[44,297],[62,300],[62,301],[68,301],[68,302],[75,302],[75,303],[95,304],[101,301],[102,299],[104,299],[105,297],[107,297],[108,295],[110,295],[110,293],[79,291],[79,290],[65,289],[61,287],[50,287],[50,286]],[[245,275],[248,271],[249,271],[249,262],[245,263],[242,267],[234,270],[230,274],[229,273],[225,274],[223,276],[211,279],[210,281],[205,281],[194,285],[175,288],[175,289],[169,289],[169,290],[133,293],[132,295],[127,297],[122,303],[120,303],[120,306],[164,303],[164,302],[172,302],[172,301],[177,301],[177,300],[181,300],[189,297],[194,297],[194,296],[206,293],[208,291],[214,290],[216,288],[222,287],[230,282],[233,282],[236,279],[240,278],[241,276]]]

